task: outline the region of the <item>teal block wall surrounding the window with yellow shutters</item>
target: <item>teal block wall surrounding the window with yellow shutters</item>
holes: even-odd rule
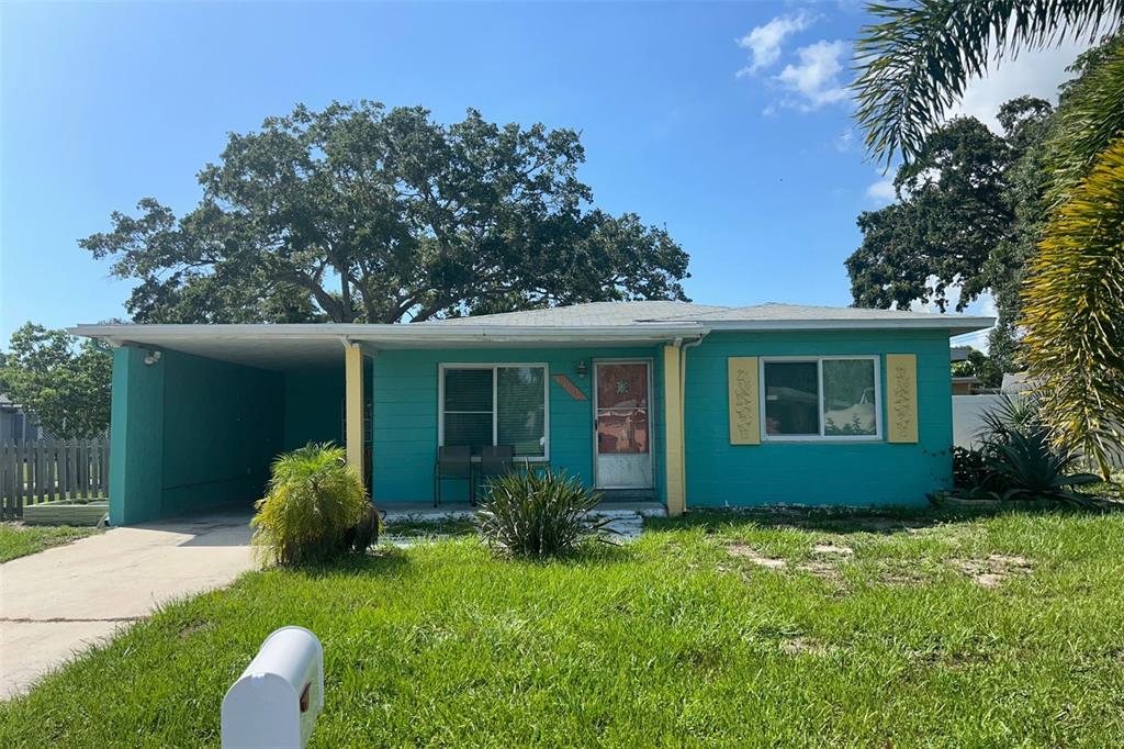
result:
[[[917,355],[918,442],[886,442],[887,353]],[[729,443],[727,358],[878,354],[878,442]],[[711,333],[687,360],[687,506],[918,505],[952,482],[949,337],[943,331]]]

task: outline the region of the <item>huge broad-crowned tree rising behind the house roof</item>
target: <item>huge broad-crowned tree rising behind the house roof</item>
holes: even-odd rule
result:
[[[232,134],[176,217],[155,199],[80,244],[139,280],[137,322],[404,319],[683,299],[688,256],[592,208],[578,134],[420,107],[298,106]]]

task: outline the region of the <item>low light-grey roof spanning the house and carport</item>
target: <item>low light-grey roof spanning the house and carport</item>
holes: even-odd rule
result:
[[[853,307],[686,301],[600,301],[551,309],[457,317],[414,324],[79,325],[74,335],[110,345],[140,345],[255,367],[338,363],[343,344],[369,349],[627,345],[697,339],[711,331],[901,330],[949,335],[990,327],[963,317]]]

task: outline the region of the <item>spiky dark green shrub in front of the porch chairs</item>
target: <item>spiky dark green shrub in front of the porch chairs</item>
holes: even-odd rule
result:
[[[477,518],[495,550],[515,557],[559,556],[583,536],[605,538],[609,518],[590,514],[598,499],[564,472],[514,471],[489,484]]]

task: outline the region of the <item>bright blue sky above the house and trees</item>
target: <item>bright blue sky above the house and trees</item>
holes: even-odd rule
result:
[[[595,202],[665,225],[710,304],[846,305],[855,217],[883,205],[842,87],[864,20],[798,4],[4,4],[0,341],[126,315],[76,242],[152,196],[176,211],[228,132],[297,102],[424,105],[443,121],[581,130]],[[962,109],[1050,93],[1070,48]]]

